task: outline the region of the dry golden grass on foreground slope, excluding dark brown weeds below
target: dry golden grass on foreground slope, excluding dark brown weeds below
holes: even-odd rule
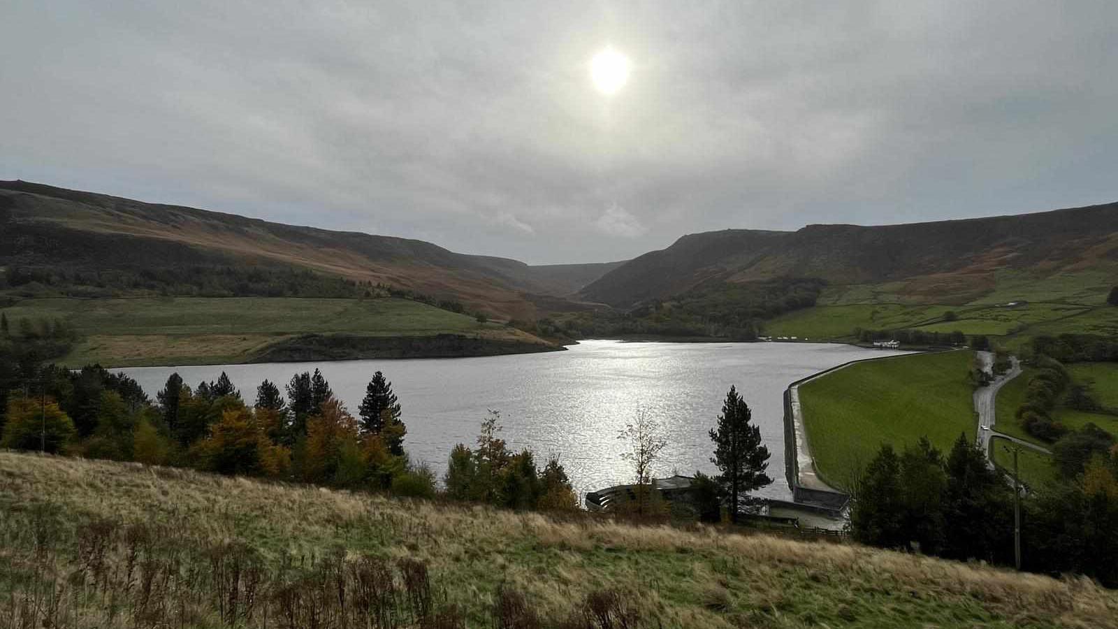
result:
[[[710,527],[559,520],[0,452],[0,514],[18,524],[34,505],[49,506],[68,527],[110,518],[167,526],[196,546],[236,541],[269,566],[338,546],[347,561],[419,560],[435,601],[456,608],[470,626],[492,622],[504,586],[555,619],[588,594],[620,593],[651,627],[1118,627],[1118,593],[1083,579]],[[17,524],[0,522],[0,553],[13,560],[31,552],[20,545],[26,536]],[[59,570],[74,569],[68,557],[58,552]],[[8,591],[18,590],[12,582],[0,574]],[[6,594],[0,590],[0,601]]]

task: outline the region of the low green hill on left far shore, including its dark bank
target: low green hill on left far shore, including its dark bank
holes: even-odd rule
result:
[[[76,332],[70,367],[220,365],[357,358],[442,358],[548,351],[532,335],[398,299],[23,299],[12,321],[59,321]]]

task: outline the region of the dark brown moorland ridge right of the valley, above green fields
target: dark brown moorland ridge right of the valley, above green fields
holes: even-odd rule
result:
[[[622,264],[580,292],[629,307],[709,280],[822,278],[833,284],[893,283],[906,301],[964,303],[988,293],[1003,271],[1038,278],[1118,269],[1118,204],[1017,216],[796,232],[691,234]]]

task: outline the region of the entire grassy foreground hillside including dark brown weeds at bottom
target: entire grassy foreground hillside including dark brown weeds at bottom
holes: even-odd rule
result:
[[[1118,627],[1082,580],[138,464],[0,452],[0,626]]]

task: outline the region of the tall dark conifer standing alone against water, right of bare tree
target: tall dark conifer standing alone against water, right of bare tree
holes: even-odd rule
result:
[[[730,387],[718,416],[718,429],[711,429],[714,457],[710,462],[718,466],[721,475],[718,482],[730,498],[730,519],[738,522],[739,499],[748,491],[773,482],[765,473],[768,468],[769,451],[761,444],[760,428],[750,424],[752,412],[749,405]]]

